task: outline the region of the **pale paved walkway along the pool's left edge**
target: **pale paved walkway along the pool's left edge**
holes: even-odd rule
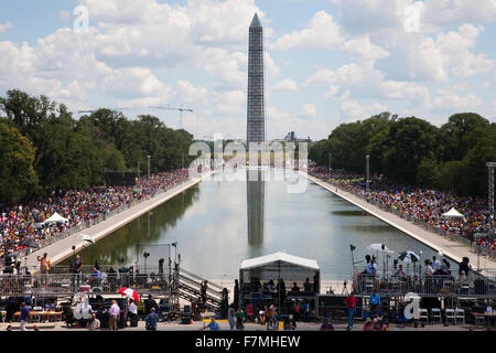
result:
[[[29,268],[33,268],[39,266],[37,256],[43,256],[43,253],[47,253],[48,257],[52,259],[52,265],[55,265],[57,263],[63,261],[65,258],[73,255],[72,247],[76,247],[76,252],[80,250],[85,245],[87,246],[87,243],[83,242],[79,238],[80,234],[87,234],[90,235],[95,242],[98,242],[103,237],[111,234],[116,229],[122,227],[123,225],[128,224],[129,222],[138,218],[139,216],[145,214],[147,212],[150,212],[151,210],[155,208],[160,204],[164,203],[165,201],[174,197],[175,195],[182,193],[183,191],[190,189],[191,186],[200,183],[203,179],[208,178],[215,173],[215,171],[207,172],[201,176],[197,176],[195,179],[192,179],[190,181],[186,181],[175,188],[172,188],[171,190],[158,194],[154,197],[143,201],[140,204],[132,206],[126,211],[122,211],[111,217],[109,217],[106,221],[103,221],[89,228],[85,228],[78,233],[75,233],[73,235],[69,235],[61,240],[57,240],[56,243],[48,245],[46,247],[43,247],[34,253],[31,253],[26,256],[26,260],[24,263],[24,257],[22,258],[22,265],[28,266]],[[26,265],[24,265],[26,264]]]

